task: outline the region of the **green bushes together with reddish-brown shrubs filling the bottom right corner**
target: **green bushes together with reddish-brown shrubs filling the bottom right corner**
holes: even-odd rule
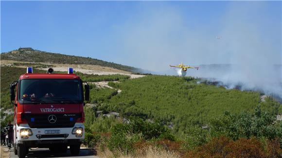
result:
[[[280,158],[282,122],[257,106],[254,113],[230,113],[214,117],[208,129],[185,131],[181,148],[191,158]],[[241,155],[240,155],[241,153]]]

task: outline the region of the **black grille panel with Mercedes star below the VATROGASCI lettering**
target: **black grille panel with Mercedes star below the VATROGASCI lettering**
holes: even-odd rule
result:
[[[73,127],[76,120],[81,118],[81,113],[22,113],[21,118],[27,120],[31,128]]]

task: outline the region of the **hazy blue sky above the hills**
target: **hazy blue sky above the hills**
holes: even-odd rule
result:
[[[33,47],[151,69],[280,64],[281,1],[1,1],[1,52]],[[221,36],[222,39],[216,39]]]

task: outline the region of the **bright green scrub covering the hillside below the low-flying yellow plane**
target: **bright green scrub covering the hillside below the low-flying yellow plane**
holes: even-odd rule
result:
[[[190,77],[147,76],[120,83],[109,82],[109,86],[122,92],[116,95],[112,89],[92,89],[91,101],[98,102],[98,110],[118,111],[124,117],[138,116],[171,125],[179,137],[185,128],[206,126],[211,117],[225,111],[251,112],[260,104],[263,110],[272,114],[282,113],[279,102],[270,97],[261,102],[259,92],[227,90],[196,81]],[[105,97],[101,98],[102,95]]]

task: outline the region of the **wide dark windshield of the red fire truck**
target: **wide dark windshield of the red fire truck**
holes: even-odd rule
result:
[[[20,101],[82,101],[82,88],[75,79],[23,79]]]

